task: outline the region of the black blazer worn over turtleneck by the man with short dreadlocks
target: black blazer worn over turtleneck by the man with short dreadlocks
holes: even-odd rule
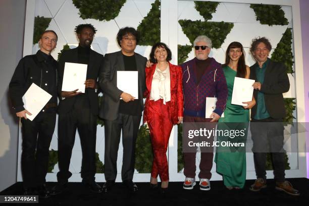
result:
[[[58,106],[58,112],[61,113],[67,113],[73,108],[73,104],[75,101],[75,97],[69,97],[62,99],[61,98],[61,90],[62,90],[62,81],[63,81],[63,74],[64,74],[64,67],[66,62],[70,63],[78,63],[78,54],[77,54],[78,48],[73,48],[70,50],[66,50],[60,57],[59,60],[59,86],[58,86],[58,94],[60,98],[59,106]],[[90,49],[90,55],[89,55],[89,64],[87,67],[87,77],[86,79],[94,79],[97,80],[98,73],[100,68],[103,66],[104,57],[103,55],[98,54],[97,52],[94,52],[94,50]],[[93,115],[98,114],[98,98],[97,93],[95,92],[95,89],[86,88],[85,94],[88,95],[89,98],[89,104],[90,104],[90,110]]]

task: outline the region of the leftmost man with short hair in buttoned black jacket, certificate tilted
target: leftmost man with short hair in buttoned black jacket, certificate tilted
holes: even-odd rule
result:
[[[55,31],[46,30],[39,40],[40,50],[20,60],[9,85],[13,108],[22,123],[21,170],[25,195],[48,197],[45,176],[48,149],[56,124],[58,63],[50,55],[57,45]],[[30,121],[24,108],[23,95],[34,83],[52,95],[44,108]]]

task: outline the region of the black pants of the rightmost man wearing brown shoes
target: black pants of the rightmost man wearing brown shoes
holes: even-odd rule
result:
[[[266,155],[272,155],[274,178],[278,182],[285,179],[284,173],[284,127],[282,119],[252,119],[250,131],[253,140],[253,159],[257,178],[266,180]]]

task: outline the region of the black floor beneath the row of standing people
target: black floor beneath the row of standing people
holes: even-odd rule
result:
[[[260,192],[251,192],[248,187],[254,180],[247,180],[246,186],[241,190],[227,190],[222,181],[211,181],[210,191],[201,191],[198,182],[193,190],[182,189],[182,182],[170,182],[169,192],[165,195],[159,191],[149,189],[149,183],[137,183],[139,191],[129,193],[121,183],[116,183],[113,190],[108,193],[91,193],[81,183],[69,183],[69,191],[46,199],[39,199],[33,205],[309,205],[309,180],[306,178],[293,178],[289,180],[294,188],[300,191],[299,197],[294,197],[275,190],[273,179],[267,180],[267,188]],[[55,182],[48,182],[49,188]],[[99,183],[102,185],[102,183]],[[22,194],[22,183],[18,182],[0,195]],[[24,204],[3,204],[24,205]],[[30,205],[29,203],[25,205]]]

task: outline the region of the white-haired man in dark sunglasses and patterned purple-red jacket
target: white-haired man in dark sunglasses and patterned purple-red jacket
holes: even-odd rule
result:
[[[187,122],[205,123],[208,129],[214,129],[215,124],[221,117],[227,99],[227,85],[221,64],[214,58],[208,57],[212,47],[212,41],[207,36],[198,36],[193,42],[195,58],[181,65],[183,71],[183,94],[184,94],[184,124]],[[216,108],[210,117],[205,117],[206,97],[217,97]],[[213,136],[208,141],[213,144]],[[185,137],[185,140],[187,137]],[[211,169],[213,166],[213,147],[207,151],[201,149],[200,190],[210,190]],[[195,185],[195,158],[196,147],[185,151],[184,155],[184,175],[186,179],[183,184],[184,189],[193,189]]]

